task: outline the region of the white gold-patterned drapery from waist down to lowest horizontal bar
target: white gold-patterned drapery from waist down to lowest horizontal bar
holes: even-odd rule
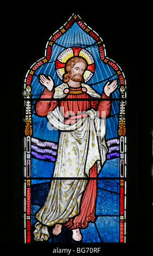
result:
[[[105,119],[100,119],[94,109],[86,115],[71,125],[64,124],[59,107],[47,115],[49,123],[61,130],[54,177],[86,177],[96,161],[100,172],[107,151]]]

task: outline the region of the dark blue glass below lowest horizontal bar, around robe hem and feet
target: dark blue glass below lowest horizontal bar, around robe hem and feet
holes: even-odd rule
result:
[[[34,230],[35,212],[40,209],[48,194],[50,180],[31,181],[31,225]],[[86,229],[81,229],[82,242],[119,242],[119,180],[98,180],[97,203],[94,223],[88,223]],[[107,215],[107,216],[106,216]],[[58,236],[52,234],[48,242],[74,242],[71,230],[62,228]],[[33,236],[33,234],[31,234]]]

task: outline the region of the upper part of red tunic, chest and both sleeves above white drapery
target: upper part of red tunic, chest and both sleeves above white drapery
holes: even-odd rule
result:
[[[70,88],[72,91],[81,90],[80,88],[74,89]],[[49,99],[52,98],[54,94],[54,91],[50,92],[47,89],[44,89],[40,99]],[[81,94],[68,94],[65,99],[76,99],[75,100],[67,100],[63,101],[62,99],[60,101],[38,101],[36,104],[36,112],[41,117],[44,115],[47,115],[50,111],[52,111],[59,102],[59,106],[63,107],[61,108],[62,114],[65,118],[67,118],[69,115],[73,116],[78,113],[82,113],[84,111],[87,111],[88,109],[95,109],[95,111],[99,112],[100,118],[107,118],[110,114],[110,108],[111,108],[111,101],[103,101],[103,99],[111,99],[111,97],[107,97],[105,93],[101,95],[101,101],[92,101],[92,97],[88,95],[87,93],[81,93]],[[77,101],[77,99],[82,99],[82,101]],[[84,99],[89,99],[89,101]]]

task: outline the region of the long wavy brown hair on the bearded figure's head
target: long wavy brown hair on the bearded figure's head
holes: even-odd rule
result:
[[[66,65],[65,65],[65,74],[63,75],[63,82],[67,83],[69,81],[69,75],[71,75],[71,69],[78,62],[84,63],[85,69],[87,69],[88,64],[84,58],[72,57],[72,58],[68,59],[68,61],[66,62]]]

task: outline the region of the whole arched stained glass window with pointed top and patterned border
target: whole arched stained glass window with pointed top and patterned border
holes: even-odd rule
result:
[[[24,243],[126,242],[126,80],[93,29],[73,14],[25,75]]]

